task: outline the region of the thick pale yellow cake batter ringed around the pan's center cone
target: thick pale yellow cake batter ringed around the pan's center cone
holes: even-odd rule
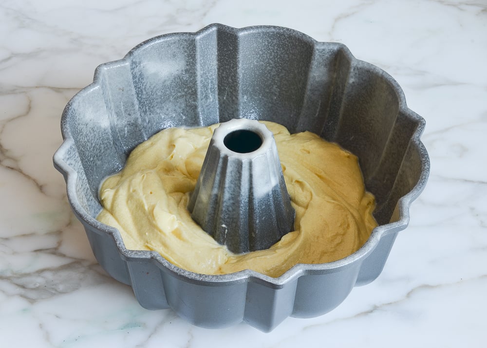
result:
[[[187,202],[218,125],[169,128],[136,147],[125,168],[100,188],[97,219],[116,227],[128,249],[155,250],[202,274],[252,269],[277,277],[298,263],[354,253],[377,225],[356,156],[311,132],[289,134],[271,122],[293,207],[295,231],[266,250],[233,254],[195,223]]]

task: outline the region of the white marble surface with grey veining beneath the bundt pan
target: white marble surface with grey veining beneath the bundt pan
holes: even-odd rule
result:
[[[345,43],[427,121],[426,190],[383,273],[336,310],[193,327],[97,265],[52,165],[63,107],[95,67],[164,33],[274,24]],[[487,2],[55,1],[0,4],[1,347],[485,347]]]

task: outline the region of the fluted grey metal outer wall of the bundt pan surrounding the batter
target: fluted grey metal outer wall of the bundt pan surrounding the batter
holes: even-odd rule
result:
[[[251,270],[202,275],[156,252],[128,250],[115,228],[95,219],[100,183],[122,169],[136,145],[164,128],[234,118],[309,130],[354,153],[377,203],[379,226],[368,241],[343,259],[298,264],[278,278]],[[131,285],[144,308],[172,308],[206,328],[244,321],[270,331],[287,316],[331,311],[380,274],[428,178],[424,126],[396,81],[343,44],[281,27],[212,24],[151,38],[100,65],[62,114],[64,142],[54,164],[96,259]]]

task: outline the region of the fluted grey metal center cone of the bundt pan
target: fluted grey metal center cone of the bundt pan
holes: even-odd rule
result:
[[[295,211],[272,132],[244,118],[216,128],[187,208],[237,254],[268,249],[293,231]]]

